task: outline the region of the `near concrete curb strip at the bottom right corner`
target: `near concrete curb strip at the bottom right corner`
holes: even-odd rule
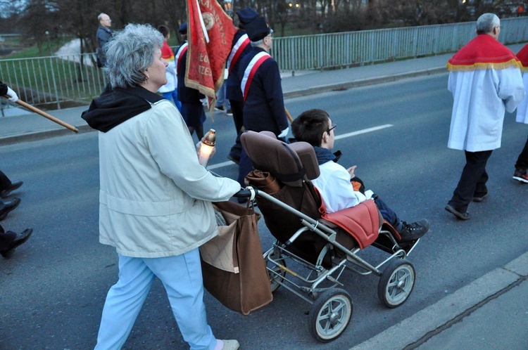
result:
[[[505,266],[486,273],[375,337],[354,346],[351,350],[406,349],[408,346],[413,349],[490,300],[508,292],[510,287],[526,280],[527,277],[528,252]]]

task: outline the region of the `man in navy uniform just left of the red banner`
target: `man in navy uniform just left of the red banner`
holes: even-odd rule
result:
[[[176,51],[176,74],[178,77],[178,100],[182,103],[182,117],[189,128],[189,133],[196,131],[198,141],[203,138],[203,122],[206,121],[206,112],[203,110],[203,105],[200,101],[204,98],[202,93],[196,89],[191,89],[185,86],[185,70],[187,69],[187,49],[189,43],[187,42],[187,23],[182,23],[178,32],[185,40],[184,44]]]

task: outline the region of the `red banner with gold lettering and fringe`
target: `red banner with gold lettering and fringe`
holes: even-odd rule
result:
[[[232,19],[217,0],[187,0],[189,51],[185,86],[208,96],[211,110],[216,91],[224,82],[225,62],[235,32]]]

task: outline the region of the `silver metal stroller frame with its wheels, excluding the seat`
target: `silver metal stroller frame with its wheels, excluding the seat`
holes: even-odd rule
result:
[[[382,228],[379,231],[379,237],[384,237],[386,242],[391,243],[391,246],[387,246],[384,242],[374,242],[372,245],[389,252],[390,256],[379,264],[372,265],[358,256],[357,253],[361,250],[359,247],[347,249],[339,244],[336,241],[337,231],[325,226],[324,223],[299,212],[268,195],[268,193],[251,186],[247,187],[246,190],[254,191],[257,197],[273,202],[275,205],[296,214],[303,224],[303,227],[299,228],[287,242],[275,241],[272,247],[263,254],[263,258],[268,269],[272,292],[275,292],[279,287],[284,287],[312,305],[309,314],[314,316],[310,317],[308,327],[315,339],[320,342],[330,342],[336,339],[344,332],[351,319],[353,311],[351,297],[346,290],[341,289],[344,284],[339,282],[339,278],[345,270],[353,271],[361,276],[370,274],[378,276],[380,278],[378,297],[389,308],[398,307],[406,302],[415,283],[414,267],[406,258],[420,240],[415,240],[406,247],[401,247],[394,240],[391,232]],[[288,246],[299,236],[313,233],[327,241],[315,264],[288,250]],[[333,266],[325,268],[322,266],[322,259],[331,249],[339,250],[344,254],[344,257],[339,260],[334,259],[332,261]],[[286,261],[292,261],[294,264],[306,268],[308,270],[306,276],[287,267]],[[382,271],[382,267],[386,265],[389,266]],[[329,282],[329,285],[322,286],[325,282]],[[336,294],[343,300],[336,300]],[[332,306],[332,304],[334,305]],[[334,310],[334,312],[329,312],[329,309]]]

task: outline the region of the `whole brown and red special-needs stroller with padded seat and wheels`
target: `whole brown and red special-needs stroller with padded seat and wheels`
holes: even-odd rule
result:
[[[399,243],[373,200],[323,219],[310,182],[320,174],[310,144],[287,144],[268,131],[246,131],[241,143],[256,170],[246,176],[249,186],[239,196],[255,198],[276,239],[264,253],[271,290],[284,287],[312,304],[308,328],[315,339],[331,342],[351,320],[352,299],[339,282],[345,270],[379,276],[378,297],[389,308],[406,302],[415,283],[415,268],[406,258],[419,240]],[[389,257],[368,263],[357,253],[370,245]]]

